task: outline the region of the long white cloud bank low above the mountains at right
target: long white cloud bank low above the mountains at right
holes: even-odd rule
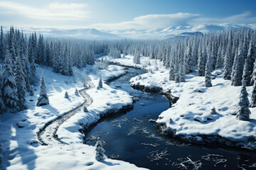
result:
[[[100,28],[106,30],[121,29],[155,29],[167,28],[170,26],[198,26],[203,24],[238,24],[240,26],[256,24],[256,17],[250,11],[245,11],[238,15],[228,16],[225,18],[206,18],[200,14],[193,13],[172,13],[172,14],[156,14],[146,15],[134,18],[132,21],[121,23],[95,23],[90,28]]]

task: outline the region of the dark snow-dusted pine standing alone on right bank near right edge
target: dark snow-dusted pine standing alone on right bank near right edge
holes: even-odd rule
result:
[[[237,119],[249,121],[250,120],[250,109],[249,109],[248,94],[246,91],[246,81],[242,79],[242,89],[240,92],[240,101],[238,103]]]

